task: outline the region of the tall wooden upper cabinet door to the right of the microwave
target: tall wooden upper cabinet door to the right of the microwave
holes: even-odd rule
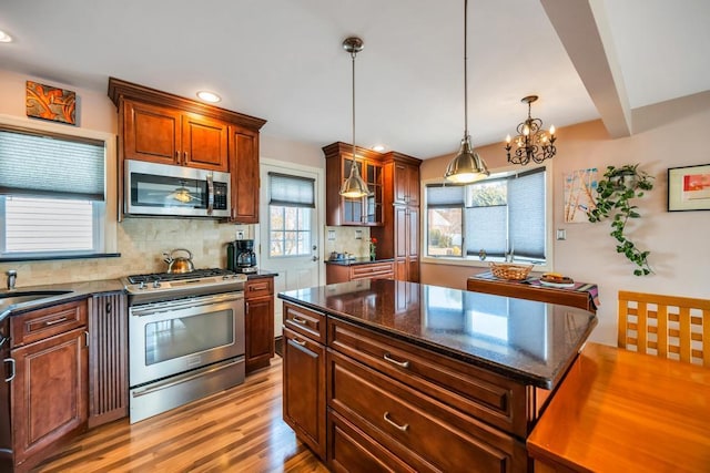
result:
[[[232,174],[232,220],[258,223],[258,133],[230,126],[230,173]]]

